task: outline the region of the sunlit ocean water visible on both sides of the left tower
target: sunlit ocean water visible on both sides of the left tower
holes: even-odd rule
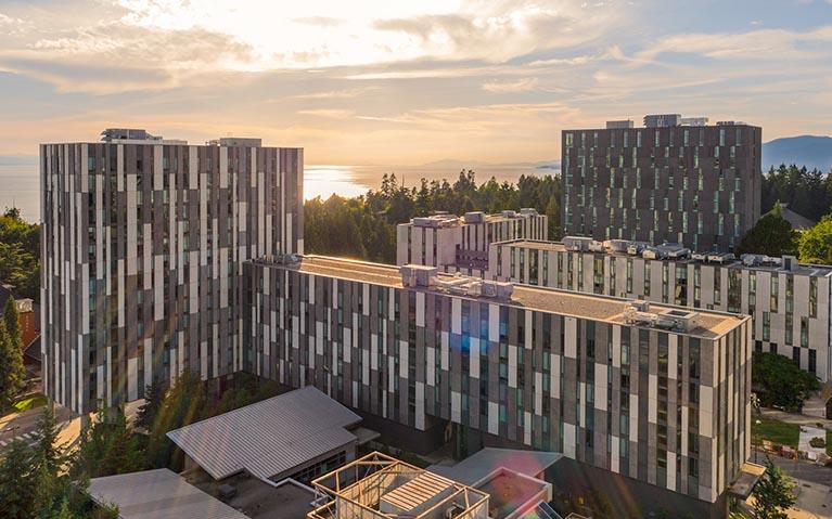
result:
[[[449,182],[459,177],[463,169],[458,164],[435,166],[395,168],[389,166],[344,166],[344,165],[307,165],[304,171],[304,197],[306,199],[321,196],[329,198],[332,194],[340,196],[358,196],[367,190],[377,190],[384,173],[395,173],[399,182],[407,186],[418,186],[421,179],[441,180]],[[495,177],[499,182],[516,183],[521,174],[543,176],[552,174],[550,169],[538,169],[535,165],[499,165],[476,166],[465,169],[476,171],[477,183],[483,183]],[[0,161],[0,210],[7,207],[17,207],[24,219],[30,222],[40,221],[40,179],[37,163],[12,164]]]

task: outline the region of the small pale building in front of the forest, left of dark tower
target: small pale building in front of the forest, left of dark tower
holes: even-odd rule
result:
[[[396,264],[438,267],[443,272],[483,275],[488,246],[505,239],[548,239],[549,219],[535,209],[464,217],[437,213],[396,228]]]

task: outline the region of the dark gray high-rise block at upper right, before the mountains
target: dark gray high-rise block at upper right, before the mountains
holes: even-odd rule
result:
[[[562,132],[565,233],[730,251],[760,217],[761,133],[678,114]]]

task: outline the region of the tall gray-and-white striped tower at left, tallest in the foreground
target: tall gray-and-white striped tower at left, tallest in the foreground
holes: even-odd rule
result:
[[[142,130],[40,146],[43,385],[84,413],[243,365],[242,263],[303,252],[303,150]]]

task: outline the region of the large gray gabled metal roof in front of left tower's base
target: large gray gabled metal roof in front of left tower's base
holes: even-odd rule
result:
[[[361,417],[312,386],[167,433],[214,479],[271,478],[350,442]]]

